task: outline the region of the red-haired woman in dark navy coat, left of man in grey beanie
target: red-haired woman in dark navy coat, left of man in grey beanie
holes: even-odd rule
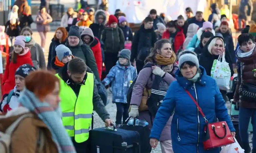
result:
[[[57,55],[55,48],[60,44],[65,45],[67,36],[68,36],[68,32],[67,32],[66,28],[58,27],[56,29],[54,37],[52,38],[52,42],[50,44],[50,48],[49,48],[48,64],[47,64],[48,70],[51,69],[52,58]]]

